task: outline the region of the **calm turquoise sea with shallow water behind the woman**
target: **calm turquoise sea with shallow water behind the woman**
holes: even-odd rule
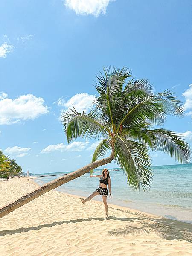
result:
[[[102,169],[95,171],[97,172],[94,175],[99,175],[101,173],[98,171],[102,172]],[[143,191],[140,191],[139,194],[132,191],[127,184],[126,175],[121,169],[109,169],[109,171],[111,171],[112,199],[108,197],[108,203],[192,223],[192,164],[153,166],[153,183],[150,191],[146,194]],[[58,177],[37,177],[35,182],[43,185]],[[90,178],[87,173],[55,190],[85,198],[98,186],[99,179]],[[102,201],[100,195],[93,199]]]

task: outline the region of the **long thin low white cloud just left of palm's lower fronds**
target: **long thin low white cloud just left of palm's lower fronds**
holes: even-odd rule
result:
[[[86,140],[85,142],[83,141],[73,141],[71,144],[69,145],[65,145],[63,143],[60,144],[56,144],[56,145],[49,145],[46,148],[41,150],[41,154],[44,153],[50,153],[53,151],[60,151],[60,152],[64,152],[64,151],[83,151],[87,145],[89,144],[89,141]]]

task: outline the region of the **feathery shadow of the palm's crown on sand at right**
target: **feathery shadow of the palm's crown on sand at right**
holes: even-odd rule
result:
[[[132,224],[125,228],[109,230],[108,233],[111,236],[138,235],[153,232],[166,240],[175,239],[192,242],[192,224],[166,218],[149,217],[147,214],[139,212],[128,212],[141,217],[137,221],[137,227]]]

